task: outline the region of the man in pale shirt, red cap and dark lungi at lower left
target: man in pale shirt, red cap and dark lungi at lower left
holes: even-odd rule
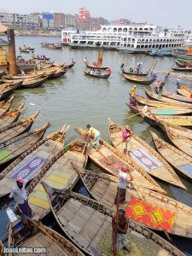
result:
[[[31,218],[32,209],[28,205],[25,186],[26,182],[24,182],[22,178],[17,178],[14,187],[11,189],[9,201],[14,197],[14,200],[18,203],[20,211],[24,214],[25,218]],[[5,207],[8,207],[8,205],[9,203]]]

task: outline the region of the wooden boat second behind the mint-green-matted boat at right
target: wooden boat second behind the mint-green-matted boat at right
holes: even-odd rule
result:
[[[156,100],[156,101],[160,101],[160,102],[169,102],[169,103],[172,103],[172,105],[175,105],[175,106],[182,106],[183,108],[186,108],[186,107],[189,107],[191,108],[192,104],[190,103],[185,103],[185,102],[179,102],[177,100],[172,100],[170,98],[167,98],[165,96],[158,96],[156,93],[154,93],[152,90],[147,90],[147,89],[144,89],[145,90],[145,94],[146,96],[148,96],[149,99],[151,100]]]

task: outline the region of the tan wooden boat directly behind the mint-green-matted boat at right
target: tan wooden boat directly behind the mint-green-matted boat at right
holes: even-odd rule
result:
[[[181,102],[160,102],[160,101],[156,101],[156,100],[148,100],[146,98],[143,98],[143,96],[136,96],[137,99],[137,104],[140,106],[143,105],[148,105],[154,108],[173,108],[174,106],[177,108],[191,108],[191,104],[184,104],[182,103],[181,106]],[[183,106],[184,104],[184,106]]]

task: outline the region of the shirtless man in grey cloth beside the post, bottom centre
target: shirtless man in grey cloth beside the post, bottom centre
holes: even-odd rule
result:
[[[112,242],[113,248],[115,248],[115,251],[117,252],[123,249],[127,253],[131,253],[131,247],[128,247],[126,239],[128,227],[129,218],[125,217],[125,210],[119,209],[118,218],[116,218],[116,216],[112,218]]]

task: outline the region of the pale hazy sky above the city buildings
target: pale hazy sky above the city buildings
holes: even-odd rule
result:
[[[192,0],[0,0],[0,10],[15,13],[57,11],[78,13],[79,7],[91,16],[108,20],[127,18],[154,25],[192,28]]]

